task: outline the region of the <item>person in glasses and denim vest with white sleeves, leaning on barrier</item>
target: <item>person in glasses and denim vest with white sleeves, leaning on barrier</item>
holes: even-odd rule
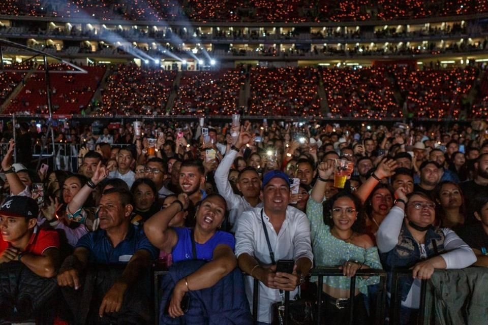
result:
[[[435,269],[466,268],[476,262],[476,256],[452,230],[433,225],[436,204],[426,194],[413,192],[406,196],[405,189],[399,187],[395,197],[395,205],[380,224],[376,241],[389,278],[395,268],[412,270],[411,277],[399,281],[400,324],[415,324],[421,280],[430,279]]]

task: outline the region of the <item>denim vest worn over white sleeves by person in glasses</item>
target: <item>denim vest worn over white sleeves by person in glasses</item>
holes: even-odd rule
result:
[[[432,226],[425,234],[425,253],[427,258],[434,257],[444,252],[444,233],[442,229]],[[435,243],[435,245],[434,245]],[[405,223],[402,225],[398,244],[385,253],[380,254],[381,264],[388,273],[387,289],[391,293],[392,273],[395,268],[408,269],[422,260],[420,245],[413,238]],[[399,290],[402,301],[407,299],[408,292],[413,283],[411,275],[401,277],[399,280]]]

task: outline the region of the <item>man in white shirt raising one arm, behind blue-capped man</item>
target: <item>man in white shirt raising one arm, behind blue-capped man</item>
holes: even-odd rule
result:
[[[230,168],[236,158],[240,148],[245,146],[251,140],[251,135],[247,132],[241,132],[235,146],[224,156],[219,167],[215,171],[214,179],[219,193],[227,202],[227,209],[229,213],[229,222],[233,226],[236,223],[238,216],[244,211],[252,210],[255,207],[262,208],[260,188],[261,180],[258,172],[252,167],[246,167],[239,172],[237,177],[237,188],[242,193],[242,196],[233,192],[232,186],[228,180]]]

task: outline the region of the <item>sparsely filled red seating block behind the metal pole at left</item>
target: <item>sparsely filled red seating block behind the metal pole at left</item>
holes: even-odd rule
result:
[[[51,70],[67,71],[64,64],[51,64]],[[87,74],[51,73],[51,103],[56,114],[79,114],[92,99],[103,75],[105,66],[86,67]],[[41,71],[41,69],[39,70]],[[6,113],[47,113],[47,96],[44,72],[33,73],[25,86],[7,107]]]

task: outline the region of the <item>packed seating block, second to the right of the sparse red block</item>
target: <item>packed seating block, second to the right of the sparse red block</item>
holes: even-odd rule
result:
[[[183,72],[171,115],[230,115],[236,112],[245,75],[238,69]]]

